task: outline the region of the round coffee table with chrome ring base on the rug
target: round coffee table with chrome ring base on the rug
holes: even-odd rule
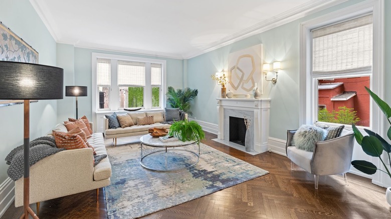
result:
[[[178,170],[182,170],[182,169],[185,169],[185,168],[189,168],[195,164],[197,164],[199,161],[200,161],[200,143],[195,141],[195,140],[191,140],[191,141],[181,141],[181,140],[177,140],[177,141],[170,141],[170,142],[162,142],[159,140],[158,137],[152,137],[150,134],[145,134],[143,135],[142,137],[140,137],[140,144],[141,144],[141,159],[140,159],[140,165],[146,169],[149,169],[149,170],[153,170],[153,171],[158,171],[158,172],[170,172],[170,171],[178,171]],[[186,145],[191,145],[193,143],[198,143],[198,153],[197,151],[191,151],[191,150],[188,150],[188,149],[183,149],[183,148],[175,148],[175,147],[183,147],[183,146],[186,146]],[[143,146],[151,146],[151,147],[160,147],[160,148],[163,148],[163,149],[160,149],[160,150],[155,150],[153,152],[150,152],[148,154],[143,154]],[[197,161],[195,162],[192,162],[192,163],[186,163],[186,166],[185,167],[174,167],[174,168],[167,168],[167,151],[170,152],[170,151],[183,151],[184,153],[190,153],[191,154],[194,154],[196,157],[197,157]],[[145,162],[145,159],[148,158],[149,155],[151,154],[155,154],[155,153],[164,153],[164,156],[165,156],[165,169],[158,169],[158,168],[155,168],[155,167],[152,167],[152,166],[148,166],[148,164],[146,164]],[[179,155],[179,154],[178,154]]]

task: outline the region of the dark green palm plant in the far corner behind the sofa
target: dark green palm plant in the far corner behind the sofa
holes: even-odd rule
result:
[[[190,110],[190,101],[198,95],[198,89],[190,89],[189,87],[183,89],[174,89],[172,86],[167,88],[167,102],[173,108],[179,108],[187,114],[193,115]]]

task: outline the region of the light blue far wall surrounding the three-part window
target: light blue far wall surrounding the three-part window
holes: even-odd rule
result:
[[[145,58],[155,58],[166,60],[166,70],[167,70],[167,86],[173,86],[174,88],[183,87],[183,60],[175,58],[163,58],[149,55],[140,55],[133,53],[125,52],[115,52],[99,49],[89,49],[89,48],[79,48],[73,47],[74,54],[69,54],[69,51],[72,50],[73,45],[61,44],[58,43],[57,48],[57,60],[64,60],[64,72],[69,72],[70,77],[74,76],[75,83],[66,84],[66,85],[80,85],[88,86],[88,96],[81,96],[78,98],[78,107],[79,107],[79,117],[86,115],[92,120],[92,52],[107,53],[107,54],[118,54],[118,55],[127,55],[127,56],[136,56],[136,57],[145,57]],[[65,52],[61,52],[61,51]],[[72,56],[72,57],[70,57]],[[73,62],[73,64],[65,63]],[[73,75],[72,75],[73,74]],[[59,100],[59,105],[64,105],[65,108],[59,107],[58,110],[58,121],[63,121],[62,119],[67,120],[71,115],[75,115],[75,106],[74,103],[69,102],[69,99],[74,100],[74,97],[65,97],[64,100]],[[73,106],[68,105],[73,104]]]

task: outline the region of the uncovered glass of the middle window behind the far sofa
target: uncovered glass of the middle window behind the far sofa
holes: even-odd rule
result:
[[[119,87],[119,108],[127,107],[144,107],[144,87]]]

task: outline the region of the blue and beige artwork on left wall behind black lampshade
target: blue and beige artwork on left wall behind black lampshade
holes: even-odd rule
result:
[[[38,63],[38,52],[0,22],[0,60]],[[36,102],[38,100],[33,100]],[[0,106],[23,103],[23,100],[2,100]]]

